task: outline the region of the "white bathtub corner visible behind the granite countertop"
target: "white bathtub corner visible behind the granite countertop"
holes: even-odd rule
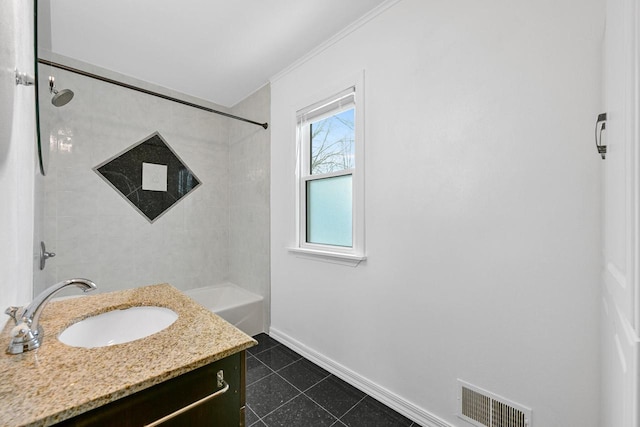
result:
[[[249,336],[264,331],[264,301],[260,295],[232,283],[184,293]]]

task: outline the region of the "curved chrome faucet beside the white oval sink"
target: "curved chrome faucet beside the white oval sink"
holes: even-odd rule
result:
[[[45,289],[24,307],[9,307],[5,313],[11,316],[16,326],[11,330],[11,342],[7,348],[9,354],[19,354],[40,347],[44,337],[40,326],[40,314],[53,296],[69,286],[77,286],[84,292],[97,289],[95,283],[87,279],[69,279]]]

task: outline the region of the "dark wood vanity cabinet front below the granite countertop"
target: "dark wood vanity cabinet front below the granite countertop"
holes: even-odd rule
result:
[[[153,363],[153,360],[149,363]],[[224,380],[229,384],[229,389],[225,393],[161,425],[163,427],[242,427],[244,426],[245,369],[245,352],[241,351],[57,425],[76,427],[148,425],[220,390],[217,376],[222,370]]]

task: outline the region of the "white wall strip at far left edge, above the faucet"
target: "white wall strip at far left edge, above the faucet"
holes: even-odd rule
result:
[[[24,304],[32,291],[34,88],[16,86],[15,70],[33,75],[33,4],[0,4],[0,308]]]

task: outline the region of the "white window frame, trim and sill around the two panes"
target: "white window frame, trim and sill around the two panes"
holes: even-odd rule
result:
[[[324,96],[318,96],[316,100],[323,100],[307,104],[296,111],[296,239],[295,245],[289,250],[299,256],[329,261],[339,264],[356,266],[366,259],[364,246],[364,76],[361,73],[350,84],[344,85],[338,90],[326,91]],[[353,93],[353,95],[349,95]],[[335,103],[340,98],[353,96],[352,103],[332,108],[327,112],[315,114],[324,106]],[[308,130],[311,121],[317,122],[323,118],[338,114],[350,108],[355,108],[355,141],[354,157],[355,167],[339,172],[311,175],[310,150]],[[310,116],[309,123],[304,123],[301,116]],[[332,178],[336,176],[351,175],[352,183],[352,246],[334,246],[306,241],[306,186],[310,180]]]

